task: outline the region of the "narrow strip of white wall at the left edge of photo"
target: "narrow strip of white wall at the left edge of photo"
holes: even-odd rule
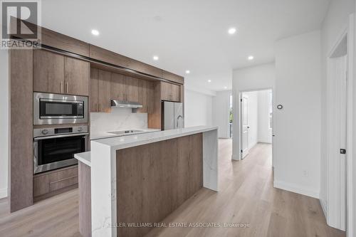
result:
[[[7,196],[9,160],[9,56],[0,50],[0,199]]]

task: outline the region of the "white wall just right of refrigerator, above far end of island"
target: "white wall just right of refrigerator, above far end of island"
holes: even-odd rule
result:
[[[212,125],[212,96],[185,88],[184,126]]]

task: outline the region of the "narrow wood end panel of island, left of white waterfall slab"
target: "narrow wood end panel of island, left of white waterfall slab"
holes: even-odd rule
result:
[[[83,237],[91,236],[91,181],[90,167],[79,162],[79,231]]]

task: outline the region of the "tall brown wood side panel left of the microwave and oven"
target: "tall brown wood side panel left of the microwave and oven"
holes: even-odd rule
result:
[[[10,211],[33,204],[33,51],[9,51]]]

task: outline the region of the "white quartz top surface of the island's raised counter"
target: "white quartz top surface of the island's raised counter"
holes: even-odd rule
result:
[[[194,135],[200,132],[208,132],[211,130],[217,130],[218,127],[185,127],[176,130],[164,130],[159,132],[143,133],[138,135],[130,135],[125,137],[110,137],[107,139],[96,139],[92,142],[98,142],[100,144],[107,145],[112,150],[125,149],[129,147],[136,147],[142,144],[149,144],[152,142],[159,142],[167,139],[173,139],[176,137],[184,137],[188,135]]]

